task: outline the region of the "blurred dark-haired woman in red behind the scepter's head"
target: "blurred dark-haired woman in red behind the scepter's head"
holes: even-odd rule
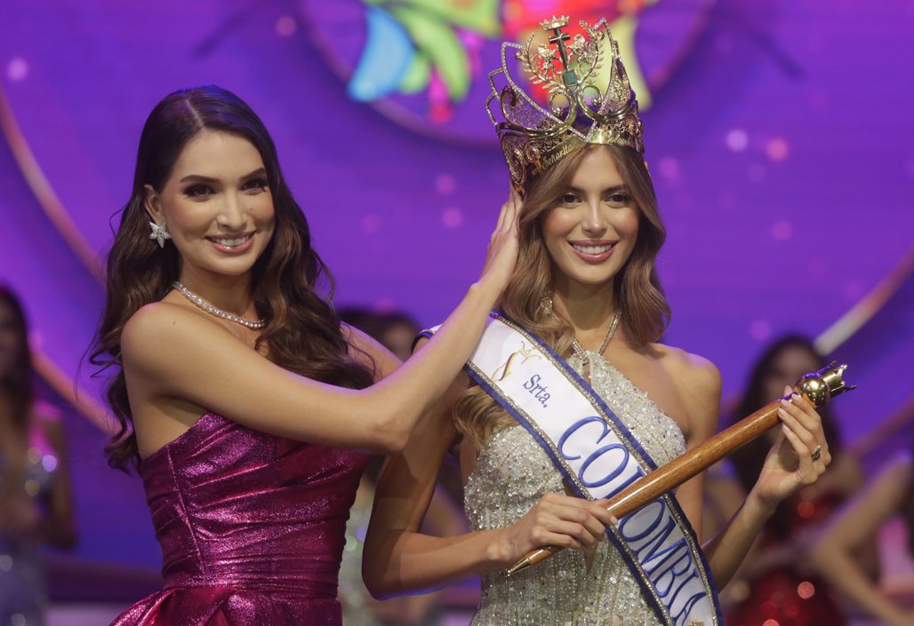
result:
[[[755,362],[746,390],[732,418],[737,422],[781,396],[803,374],[826,364],[813,342],[799,335],[785,336],[769,345]],[[761,626],[769,620],[780,626],[841,626],[845,618],[828,585],[806,567],[804,555],[815,529],[863,485],[860,464],[842,446],[841,433],[829,407],[819,409],[832,464],[818,481],[800,489],[778,506],[756,545],[730,583],[725,600],[730,605],[728,626]],[[777,429],[747,443],[730,456],[738,485],[716,474],[708,483],[710,499],[718,498],[719,518],[736,511],[739,499],[755,484]],[[876,569],[875,546],[862,553],[866,569]]]

